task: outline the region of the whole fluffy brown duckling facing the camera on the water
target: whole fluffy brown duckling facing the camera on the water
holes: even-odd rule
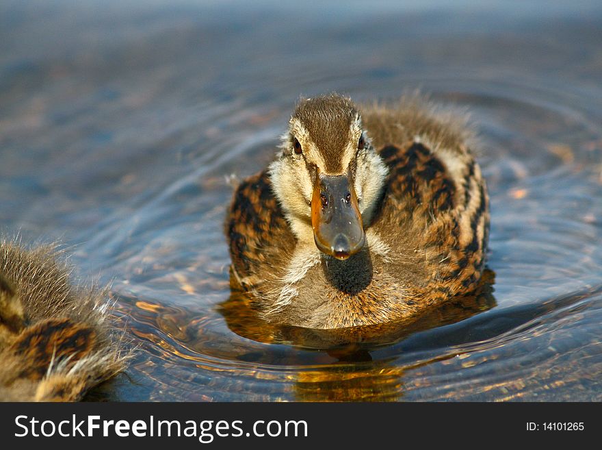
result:
[[[266,321],[335,329],[473,292],[489,228],[462,114],[419,97],[302,99],[276,160],[235,190],[231,284]]]

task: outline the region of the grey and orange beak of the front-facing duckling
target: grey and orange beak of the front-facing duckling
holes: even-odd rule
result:
[[[347,175],[318,175],[311,199],[311,225],[317,248],[346,260],[365,243],[362,216]]]

